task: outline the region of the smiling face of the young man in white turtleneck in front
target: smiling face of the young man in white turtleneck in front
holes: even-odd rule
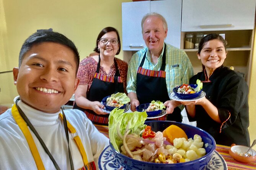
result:
[[[70,48],[54,42],[33,45],[20,68],[13,68],[20,99],[39,111],[58,112],[78,86],[76,67]]]

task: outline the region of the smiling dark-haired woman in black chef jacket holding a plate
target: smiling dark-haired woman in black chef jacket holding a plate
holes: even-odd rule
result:
[[[227,57],[226,43],[218,34],[202,38],[197,52],[203,71],[189,80],[203,83],[206,96],[197,101],[181,102],[186,105],[189,121],[210,133],[217,144],[232,143],[249,146],[248,86],[243,77],[223,66]]]

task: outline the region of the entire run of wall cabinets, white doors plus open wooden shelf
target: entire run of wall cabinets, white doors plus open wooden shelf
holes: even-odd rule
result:
[[[174,2],[177,4],[174,5]],[[179,8],[181,2],[182,14],[180,13],[181,8]],[[142,6],[144,3],[147,5]],[[141,8],[144,9],[144,7],[148,9],[148,4],[150,12],[160,13],[166,18],[168,37],[165,42],[171,45],[176,44],[175,47],[183,49],[188,54],[194,68],[194,74],[202,71],[202,64],[197,59],[197,49],[184,49],[185,35],[192,33],[196,37],[197,33],[225,34],[228,54],[224,65],[233,66],[235,71],[241,72],[249,84],[256,0],[159,0],[122,3],[122,50],[126,62],[129,62],[135,52],[146,47],[140,26],[144,14],[140,11],[143,11]],[[170,9],[173,6],[176,6],[176,11]],[[173,12],[170,13],[171,11]],[[148,12],[148,10],[143,11],[145,14]],[[170,16],[172,15],[173,18],[180,19],[180,21],[171,19]],[[229,24],[232,26],[228,27]],[[180,26],[178,31],[171,30],[172,27],[178,26]],[[180,42],[177,43],[177,41]],[[143,47],[129,47],[133,45],[137,47],[142,45]]]

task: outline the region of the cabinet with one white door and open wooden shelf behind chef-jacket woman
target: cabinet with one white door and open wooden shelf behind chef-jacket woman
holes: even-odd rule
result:
[[[233,66],[249,84],[253,50],[256,0],[183,0],[181,49],[186,34],[225,34],[227,58],[224,66]],[[184,49],[194,68],[202,71],[197,49]]]

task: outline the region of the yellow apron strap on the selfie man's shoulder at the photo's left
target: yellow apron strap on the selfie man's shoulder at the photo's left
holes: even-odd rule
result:
[[[28,142],[28,146],[30,148],[30,151],[34,157],[34,160],[36,162],[36,167],[39,170],[45,170],[44,168],[44,164],[42,163],[42,159],[39,155],[38,149],[36,148],[36,144],[33,140],[33,137],[31,135],[31,133],[29,132],[27,123],[23,120],[23,118],[21,117],[16,104],[13,105],[13,107],[11,108],[11,113],[13,115],[13,118],[15,119],[15,121],[17,122],[18,126],[20,127],[21,131],[23,132],[27,142]]]

